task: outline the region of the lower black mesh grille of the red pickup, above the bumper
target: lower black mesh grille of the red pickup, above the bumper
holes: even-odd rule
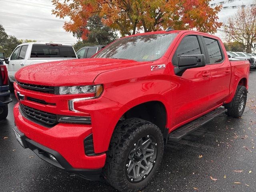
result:
[[[42,126],[51,128],[58,124],[57,115],[34,109],[20,104],[20,112],[23,116]]]

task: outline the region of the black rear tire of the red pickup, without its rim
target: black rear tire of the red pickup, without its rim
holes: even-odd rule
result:
[[[241,111],[239,111],[239,103],[240,103],[240,98],[242,96],[242,94],[244,94],[244,106],[242,108]],[[241,86],[239,85],[236,89],[236,93],[234,95],[234,98],[232,100],[232,102],[230,104],[227,104],[225,106],[226,109],[228,109],[227,111],[227,115],[234,117],[234,118],[239,118],[242,116],[242,114],[244,113],[244,109],[246,106],[246,100],[247,100],[247,90],[245,86]]]

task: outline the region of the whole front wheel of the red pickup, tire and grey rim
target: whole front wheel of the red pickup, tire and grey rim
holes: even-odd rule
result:
[[[164,139],[151,122],[130,118],[116,127],[107,152],[103,176],[122,192],[137,192],[161,164]]]

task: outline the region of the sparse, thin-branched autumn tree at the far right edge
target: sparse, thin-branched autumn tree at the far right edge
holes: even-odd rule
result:
[[[236,14],[229,17],[224,24],[226,41],[230,44],[238,42],[252,52],[252,43],[256,42],[256,7],[242,6]]]

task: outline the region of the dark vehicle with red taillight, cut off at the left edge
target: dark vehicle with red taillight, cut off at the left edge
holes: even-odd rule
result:
[[[0,53],[0,120],[5,119],[8,115],[8,103],[12,102],[8,86],[7,68],[2,59],[4,53]]]

